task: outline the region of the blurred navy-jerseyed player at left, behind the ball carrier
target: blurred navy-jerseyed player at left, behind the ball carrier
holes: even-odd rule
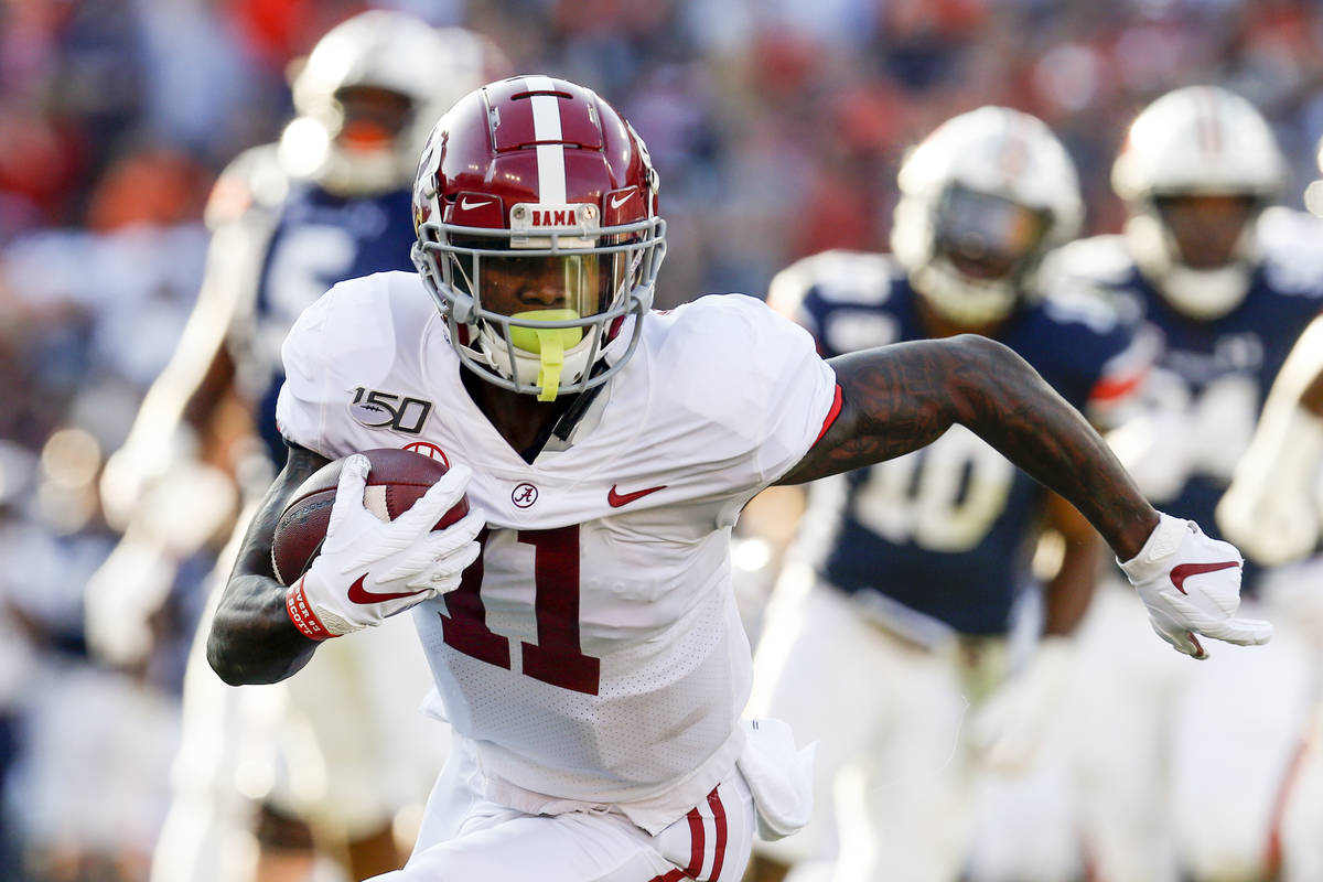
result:
[[[298,115],[279,143],[245,152],[220,176],[197,307],[106,475],[112,506],[136,509],[136,517],[89,584],[91,639],[105,655],[126,661],[146,649],[147,623],[175,561],[226,514],[213,510],[202,525],[201,517],[180,517],[180,504],[225,499],[218,473],[245,481],[250,499],[265,491],[284,459],[274,423],[280,340],[335,282],[411,266],[418,151],[435,118],[500,63],[467,30],[438,30],[402,12],[357,15],[323,36],[292,78]],[[185,505],[197,512],[196,502]],[[232,554],[222,555],[216,578],[232,563]],[[228,866],[247,853],[235,848],[251,826],[242,793],[263,791],[258,878],[303,878],[315,850],[345,849],[355,878],[402,863],[393,822],[426,796],[418,778],[441,767],[445,731],[415,710],[426,693],[425,659],[390,631],[337,645],[291,680],[286,694],[254,698],[246,709],[196,643],[155,879],[242,875]],[[329,713],[328,689],[352,694],[356,711]]]

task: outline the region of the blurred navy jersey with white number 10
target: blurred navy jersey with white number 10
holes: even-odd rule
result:
[[[905,272],[885,255],[808,258],[778,276],[770,298],[814,333],[824,357],[929,336]],[[998,339],[1080,409],[1123,389],[1127,372],[1142,373],[1131,335],[1098,299],[1028,304]],[[963,633],[1004,633],[1031,582],[1044,493],[954,426],[919,451],[816,481],[800,551],[824,582],[876,592],[860,599],[901,618],[917,612]]]

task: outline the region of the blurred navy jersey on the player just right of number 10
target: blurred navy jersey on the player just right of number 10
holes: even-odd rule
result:
[[[1138,395],[1143,444],[1127,459],[1140,489],[1168,514],[1217,536],[1213,510],[1245,452],[1286,354],[1323,308],[1323,226],[1274,209],[1259,223],[1263,261],[1245,300],[1201,321],[1174,309],[1123,254],[1119,237],[1068,246],[1065,272],[1113,294],[1160,341]],[[1130,459],[1135,461],[1131,464]],[[1257,567],[1246,566],[1253,591]]]

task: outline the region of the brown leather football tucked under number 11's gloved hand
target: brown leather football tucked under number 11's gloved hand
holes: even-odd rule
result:
[[[407,450],[381,447],[361,452],[372,464],[363,504],[384,521],[394,520],[407,510],[448,471],[439,459]],[[321,550],[344,459],[327,463],[314,472],[294,491],[280,513],[271,540],[271,567],[280,584],[291,584],[299,579]],[[450,526],[467,513],[468,499],[462,497],[433,529]]]

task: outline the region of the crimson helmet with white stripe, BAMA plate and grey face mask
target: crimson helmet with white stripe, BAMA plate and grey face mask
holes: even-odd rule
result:
[[[606,382],[652,305],[656,200],[643,140],[582,86],[513,77],[455,103],[418,167],[413,261],[460,362],[541,401]]]

